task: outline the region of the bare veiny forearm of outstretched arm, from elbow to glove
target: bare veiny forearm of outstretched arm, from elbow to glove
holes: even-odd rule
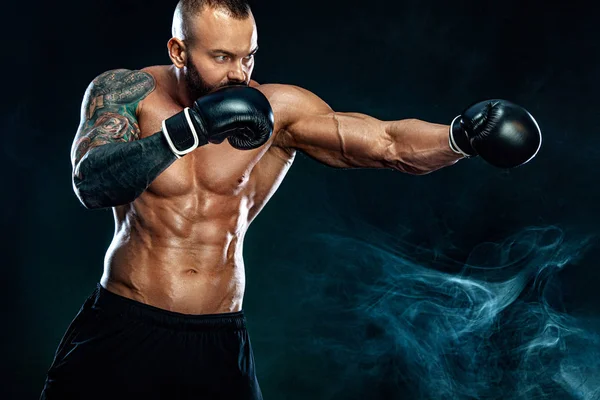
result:
[[[450,148],[448,125],[418,119],[385,121],[383,124],[389,143],[389,151],[384,158],[390,168],[424,175],[463,158]]]

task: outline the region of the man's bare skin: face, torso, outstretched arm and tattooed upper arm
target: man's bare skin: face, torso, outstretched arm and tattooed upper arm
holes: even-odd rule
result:
[[[96,78],[82,106],[71,153],[74,170],[90,148],[153,135],[163,119],[191,105],[194,94],[182,74],[192,54],[209,84],[245,83],[265,94],[274,133],[255,150],[236,150],[228,141],[200,147],[175,161],[136,200],[114,207],[115,234],[101,278],[107,290],[185,314],[239,311],[244,236],[297,150],[332,167],[410,174],[426,174],[461,158],[448,145],[447,125],[334,112],[305,89],[259,85],[250,79],[248,58],[256,47],[253,19],[227,19],[212,9],[198,18],[202,39],[193,48],[177,39],[169,42],[173,65],[109,71]],[[229,53],[228,61],[222,62],[226,57],[216,49]]]

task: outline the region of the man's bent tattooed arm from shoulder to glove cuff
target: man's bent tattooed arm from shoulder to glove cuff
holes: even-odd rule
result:
[[[108,71],[92,81],[71,148],[73,189],[86,208],[135,200],[177,157],[162,134],[140,139],[138,104],[155,88],[142,71]]]

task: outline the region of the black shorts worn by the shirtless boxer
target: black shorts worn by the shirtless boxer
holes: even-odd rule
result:
[[[244,312],[187,315],[100,284],[62,338],[41,399],[262,399]]]

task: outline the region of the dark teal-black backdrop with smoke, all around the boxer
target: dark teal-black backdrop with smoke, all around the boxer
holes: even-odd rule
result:
[[[298,156],[245,245],[265,398],[600,398],[600,35],[586,3],[545,3],[255,2],[259,82],[445,124],[504,98],[544,134],[510,171]],[[5,6],[1,398],[37,398],[112,237],[111,213],[71,188],[83,92],[108,69],[169,63],[174,5]]]

